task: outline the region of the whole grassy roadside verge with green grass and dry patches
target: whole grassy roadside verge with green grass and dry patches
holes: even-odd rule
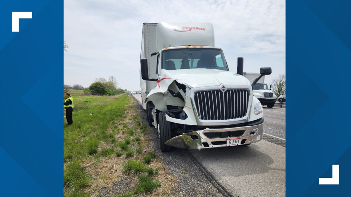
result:
[[[167,196],[176,187],[131,96],[81,96],[74,106],[73,125],[64,120],[65,196]]]

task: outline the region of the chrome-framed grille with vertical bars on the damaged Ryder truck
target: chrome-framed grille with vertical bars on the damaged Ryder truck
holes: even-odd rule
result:
[[[200,120],[231,120],[246,116],[249,95],[246,89],[198,91],[194,103]]]

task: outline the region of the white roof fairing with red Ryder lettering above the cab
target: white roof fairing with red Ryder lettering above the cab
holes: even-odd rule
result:
[[[157,52],[163,48],[187,45],[214,47],[211,23],[160,22],[156,27]]]

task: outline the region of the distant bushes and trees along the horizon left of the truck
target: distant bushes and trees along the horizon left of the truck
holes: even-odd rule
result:
[[[124,93],[124,90],[118,88],[118,82],[115,76],[108,77],[106,80],[104,77],[95,78],[94,83],[89,87],[84,88],[79,84],[74,84],[73,86],[64,84],[64,92],[68,92],[71,89],[74,90],[84,90],[84,93],[91,95],[116,95]]]

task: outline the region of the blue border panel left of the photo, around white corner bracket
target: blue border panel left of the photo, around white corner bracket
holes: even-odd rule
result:
[[[63,196],[63,0],[0,11],[0,196]],[[12,32],[12,12],[32,19]]]

